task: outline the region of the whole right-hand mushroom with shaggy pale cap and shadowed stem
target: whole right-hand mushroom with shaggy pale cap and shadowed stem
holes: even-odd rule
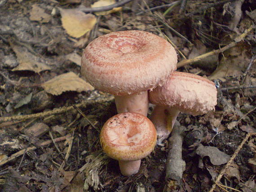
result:
[[[157,130],[157,144],[163,145],[180,112],[202,115],[214,110],[217,90],[212,81],[199,75],[173,72],[164,86],[149,92],[149,100],[156,105],[150,119]]]

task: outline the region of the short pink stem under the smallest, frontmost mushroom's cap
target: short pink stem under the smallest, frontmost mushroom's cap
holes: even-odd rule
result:
[[[130,176],[136,174],[141,166],[141,160],[137,161],[118,161],[119,168],[121,170],[122,175]]]

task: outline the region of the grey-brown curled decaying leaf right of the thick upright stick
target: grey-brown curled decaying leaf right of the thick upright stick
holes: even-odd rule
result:
[[[230,160],[230,156],[224,152],[221,152],[216,147],[203,146],[199,144],[199,147],[195,151],[201,158],[208,156],[213,165],[219,166]]]

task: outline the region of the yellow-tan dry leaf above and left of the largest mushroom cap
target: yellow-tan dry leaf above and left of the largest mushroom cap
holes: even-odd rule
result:
[[[85,14],[78,9],[61,9],[62,26],[68,35],[79,38],[93,29],[97,19],[93,14]]]

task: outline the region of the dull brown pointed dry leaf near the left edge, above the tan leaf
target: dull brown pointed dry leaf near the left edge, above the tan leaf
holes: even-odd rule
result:
[[[13,44],[12,42],[9,42],[9,44],[16,53],[19,62],[19,65],[13,68],[12,71],[30,70],[34,71],[35,73],[40,73],[41,71],[51,69],[48,65],[40,62],[40,58],[28,52],[26,48]]]

